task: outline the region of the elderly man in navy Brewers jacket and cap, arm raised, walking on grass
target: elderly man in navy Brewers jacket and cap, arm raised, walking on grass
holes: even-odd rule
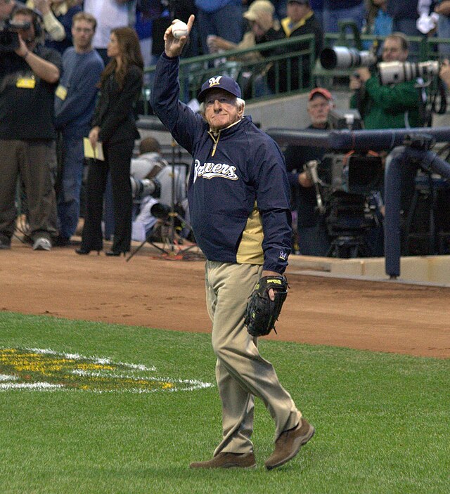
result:
[[[191,30],[194,16],[188,28]],[[179,55],[187,37],[165,32],[152,108],[193,156],[188,200],[195,239],[203,250],[207,308],[222,403],[223,438],[206,462],[191,468],[255,467],[250,439],[254,396],[276,424],[267,469],[291,460],[314,435],[276,372],[245,330],[247,299],[259,278],[285,271],[290,252],[288,178],[276,143],[244,117],[240,88],[230,77],[211,77],[198,100],[203,117],[179,101]],[[269,292],[274,297],[273,292]]]

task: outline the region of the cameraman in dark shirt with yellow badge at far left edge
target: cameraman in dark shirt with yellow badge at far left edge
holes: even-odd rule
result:
[[[11,247],[15,187],[25,185],[33,249],[51,249],[55,216],[50,164],[56,162],[53,98],[60,77],[58,52],[39,44],[39,15],[18,8],[11,19],[17,48],[0,51],[0,248]],[[15,33],[11,33],[14,38]],[[13,43],[14,44],[14,43]],[[6,50],[6,51],[5,51]]]

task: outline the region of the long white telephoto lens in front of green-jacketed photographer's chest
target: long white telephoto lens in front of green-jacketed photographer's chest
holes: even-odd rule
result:
[[[380,83],[397,84],[399,82],[408,82],[422,77],[430,79],[439,74],[439,62],[427,60],[426,62],[380,62],[378,64],[380,72]]]

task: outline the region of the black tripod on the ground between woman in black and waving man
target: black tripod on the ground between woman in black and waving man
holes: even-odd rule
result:
[[[148,242],[150,245],[153,245],[153,247],[155,247],[155,249],[158,249],[162,254],[167,254],[167,255],[170,255],[170,256],[176,256],[180,252],[186,252],[189,249],[192,249],[192,247],[194,247],[194,245],[190,245],[189,247],[186,247],[185,249],[181,249],[181,247],[179,247],[176,244],[176,239],[175,239],[175,219],[178,219],[181,222],[181,224],[184,224],[191,231],[192,231],[192,227],[188,223],[188,221],[186,221],[184,218],[182,218],[180,216],[180,214],[178,212],[176,212],[176,204],[175,204],[175,202],[178,202],[178,201],[175,200],[175,196],[176,196],[176,178],[175,178],[175,175],[176,175],[175,174],[176,153],[175,153],[175,150],[176,150],[177,144],[176,144],[176,141],[174,140],[174,138],[172,138],[171,146],[172,146],[172,163],[171,163],[170,166],[172,167],[172,173],[171,173],[171,189],[172,189],[171,196],[172,197],[171,197],[171,200],[170,200],[170,209],[169,209],[169,211],[167,211],[167,207],[165,207],[163,204],[158,204],[158,203],[157,204],[154,204],[153,207],[150,209],[150,212],[156,218],[162,219],[165,222],[167,220],[169,220],[168,223],[167,223],[167,226],[168,226],[168,229],[169,229],[169,234],[167,235],[167,243],[168,243],[169,249],[165,249],[164,247],[160,247],[159,245],[156,245],[152,240],[150,240],[150,237],[152,235],[152,232],[150,230],[150,233],[148,233],[148,235],[146,235],[146,238],[145,238],[145,240],[143,240],[143,242],[141,242],[141,245],[139,245],[138,247],[136,247],[136,249],[134,250],[134,252],[131,252],[131,254],[127,257],[127,262],[137,252],[139,252],[139,250],[143,247],[143,245],[146,242]],[[176,197],[176,199],[178,200],[178,197]],[[177,251],[176,251],[176,249],[177,249]]]

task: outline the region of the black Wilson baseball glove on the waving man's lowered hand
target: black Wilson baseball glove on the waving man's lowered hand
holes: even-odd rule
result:
[[[269,298],[273,288],[275,300]],[[275,322],[288,295],[288,280],[285,276],[263,276],[250,295],[245,311],[244,324],[252,336],[265,336],[275,330]],[[276,332],[276,330],[275,330]]]

